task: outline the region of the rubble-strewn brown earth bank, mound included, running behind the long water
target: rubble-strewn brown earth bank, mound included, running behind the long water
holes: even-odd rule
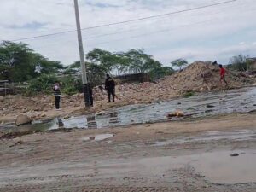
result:
[[[84,96],[77,94],[61,97],[61,111],[55,111],[54,96],[0,96],[0,123],[14,122],[19,114],[32,119],[52,119],[57,116],[76,113],[96,113],[109,108],[137,103],[160,102],[184,96],[186,93],[208,90],[236,89],[255,82],[243,73],[228,72],[229,87],[219,82],[218,66],[211,62],[197,61],[183,71],[160,79],[158,83],[119,84],[116,86],[118,99],[107,104],[107,93],[98,87],[94,89],[94,108],[84,109]]]

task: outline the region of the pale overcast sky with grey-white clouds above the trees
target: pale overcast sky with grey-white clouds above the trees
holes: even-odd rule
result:
[[[81,27],[101,26],[227,0],[79,0]],[[1,0],[0,40],[75,30],[73,0]],[[206,9],[83,31],[84,53],[144,49],[168,66],[177,58],[228,63],[256,56],[256,1],[236,0]],[[18,41],[19,42],[19,41]],[[76,32],[22,41],[50,60],[79,60]]]

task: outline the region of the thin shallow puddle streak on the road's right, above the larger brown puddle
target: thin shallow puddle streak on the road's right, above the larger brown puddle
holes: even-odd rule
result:
[[[208,131],[199,136],[195,137],[184,137],[172,140],[160,141],[153,144],[153,146],[166,146],[169,144],[182,144],[182,143],[193,143],[193,142],[207,142],[207,141],[218,141],[222,139],[226,140],[254,140],[256,137],[256,131],[252,130],[241,130],[241,131]]]

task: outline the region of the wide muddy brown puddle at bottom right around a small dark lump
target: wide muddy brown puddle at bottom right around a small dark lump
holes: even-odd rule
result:
[[[234,151],[193,154],[178,157],[156,157],[139,160],[146,172],[160,174],[168,169],[189,165],[195,172],[205,176],[212,183],[253,183],[256,182],[256,151],[239,151],[239,156],[231,157]]]

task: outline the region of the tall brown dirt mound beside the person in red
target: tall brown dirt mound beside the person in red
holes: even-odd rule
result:
[[[253,79],[246,75],[228,70],[226,80],[230,89],[253,84]],[[156,86],[160,88],[171,86],[173,90],[179,90],[181,93],[186,91],[225,89],[224,83],[221,84],[219,81],[218,65],[202,61],[192,63],[183,71],[167,77]]]

